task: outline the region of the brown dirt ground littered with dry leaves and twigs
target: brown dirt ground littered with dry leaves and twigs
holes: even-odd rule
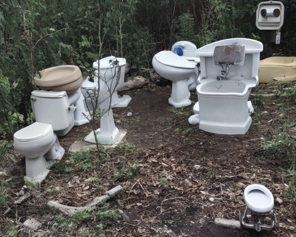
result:
[[[289,180],[287,173],[278,168],[288,161],[285,157],[260,158],[261,141],[282,130],[273,97],[264,99],[260,113],[268,114],[253,115],[247,134],[218,135],[190,125],[193,104],[183,110],[172,108],[168,104],[170,92],[169,86],[124,91],[132,97],[128,107],[113,109],[116,126],[128,131],[124,145],[107,151],[108,160],[96,159],[85,172],[77,168],[79,172],[69,173],[59,166],[52,167],[41,188],[30,190],[30,198],[17,208],[14,205],[7,217],[13,219],[17,215],[20,222],[35,218],[43,223],[44,233],[50,233],[52,217],[58,213],[46,208],[48,201],[84,206],[121,185],[123,190],[108,201],[110,206],[121,209],[121,218],[98,227],[98,233],[104,230],[103,236],[295,236],[296,211],[285,196]],[[191,100],[195,103],[197,95],[192,93]],[[128,112],[132,112],[131,117],[126,116]],[[271,119],[274,120],[268,122]],[[86,124],[59,137],[66,150],[61,165],[67,166],[70,145],[90,131],[91,125]],[[17,176],[8,192],[8,201],[13,203],[24,185],[25,161],[13,152],[10,156],[15,164],[9,170]],[[97,177],[97,181],[85,181],[91,177]],[[253,183],[263,184],[273,193],[279,224],[272,231],[259,233],[216,226],[217,217],[239,220],[245,208],[244,188]],[[89,188],[84,190],[86,185]],[[81,222],[67,236],[82,236],[90,226]]]

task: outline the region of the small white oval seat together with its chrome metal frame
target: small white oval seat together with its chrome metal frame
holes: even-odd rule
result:
[[[273,210],[274,197],[263,185],[252,184],[244,189],[244,200],[247,204],[241,217],[241,223],[245,228],[257,231],[272,230],[278,223],[276,213]]]

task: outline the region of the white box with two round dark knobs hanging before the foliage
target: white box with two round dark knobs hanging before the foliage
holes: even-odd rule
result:
[[[258,4],[256,26],[260,30],[278,30],[284,23],[284,5],[280,1]]]

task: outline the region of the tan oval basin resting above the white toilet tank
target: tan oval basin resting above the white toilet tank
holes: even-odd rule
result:
[[[73,94],[83,81],[80,69],[74,65],[56,66],[39,72],[41,78],[34,77],[34,81],[44,90],[66,91],[67,94]]]

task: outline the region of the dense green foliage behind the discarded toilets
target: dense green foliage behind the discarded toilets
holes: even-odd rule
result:
[[[263,57],[295,56],[296,1],[283,0],[281,44],[255,26],[257,0],[2,0],[0,1],[0,140],[32,122],[33,76],[74,64],[89,71],[101,57],[125,57],[139,73],[153,55],[179,40],[197,47],[247,37],[264,44]]]

